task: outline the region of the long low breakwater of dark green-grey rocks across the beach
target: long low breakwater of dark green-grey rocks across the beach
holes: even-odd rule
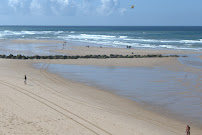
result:
[[[4,59],[108,59],[108,58],[162,58],[162,57],[187,57],[179,55],[161,55],[161,54],[148,54],[148,55],[85,55],[85,56],[67,56],[67,55],[49,55],[49,56],[25,56],[25,55],[0,55]]]

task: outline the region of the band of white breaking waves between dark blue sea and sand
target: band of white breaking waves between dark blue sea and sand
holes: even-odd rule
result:
[[[161,35],[159,35],[161,36]],[[53,39],[68,40],[83,43],[92,43],[98,45],[106,45],[113,47],[133,48],[163,48],[163,49],[186,49],[186,50],[202,50],[202,39],[180,39],[180,38],[159,38],[154,37],[152,33],[145,34],[143,32],[89,32],[89,31],[12,31],[1,30],[1,39]],[[173,36],[174,37],[174,36]]]

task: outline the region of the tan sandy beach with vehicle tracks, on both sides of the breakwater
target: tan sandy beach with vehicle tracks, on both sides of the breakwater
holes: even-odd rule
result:
[[[72,50],[56,51],[68,55],[127,55],[132,52],[135,54],[197,53],[98,47],[74,47]],[[47,72],[49,64],[165,67],[170,70],[201,71],[182,65],[176,58],[0,59],[0,63],[0,134],[2,135],[184,135],[187,124],[191,126],[191,134],[202,134],[201,125],[196,126],[194,123],[166,117],[114,93]],[[35,69],[33,63],[44,63],[44,66]],[[28,78],[27,85],[24,84],[25,74]]]

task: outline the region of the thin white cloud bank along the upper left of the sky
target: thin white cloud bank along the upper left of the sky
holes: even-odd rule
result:
[[[109,16],[125,11],[119,0],[1,0],[0,6],[0,14],[37,16]]]

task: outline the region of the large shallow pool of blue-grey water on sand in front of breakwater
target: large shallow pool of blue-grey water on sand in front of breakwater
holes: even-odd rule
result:
[[[43,65],[34,64],[37,68]],[[63,64],[49,64],[48,71],[114,92],[168,116],[202,124],[202,72]]]

